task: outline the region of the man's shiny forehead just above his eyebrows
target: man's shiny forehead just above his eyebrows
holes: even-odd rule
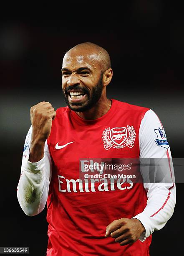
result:
[[[78,69],[80,67],[99,68],[101,67],[101,57],[94,51],[68,51],[63,58],[63,68]]]

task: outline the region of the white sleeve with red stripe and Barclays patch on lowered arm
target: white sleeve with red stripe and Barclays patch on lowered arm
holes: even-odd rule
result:
[[[141,121],[139,130],[139,145],[140,145],[140,163],[144,161],[152,161],[152,159],[162,159],[164,168],[167,169],[167,174],[170,176],[169,181],[166,179],[157,180],[154,183],[144,183],[144,188],[147,192],[147,205],[144,211],[134,216],[144,225],[146,232],[139,238],[144,242],[154,230],[160,230],[166,222],[171,218],[176,204],[176,187],[174,183],[174,170],[171,159],[171,152],[167,142],[164,128],[152,111],[148,110]],[[163,167],[160,166],[159,171]],[[145,171],[145,169],[143,169]],[[158,172],[158,170],[157,170]],[[142,174],[142,172],[141,172]],[[144,176],[144,174],[142,174]],[[160,177],[163,177],[160,175]],[[148,180],[148,179],[146,179]],[[148,181],[146,181],[148,182]]]

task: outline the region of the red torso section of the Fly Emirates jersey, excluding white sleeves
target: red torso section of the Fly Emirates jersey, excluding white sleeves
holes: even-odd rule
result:
[[[108,191],[99,191],[95,183],[95,191],[89,188],[86,192],[83,183],[80,192],[79,182],[75,182],[82,158],[139,158],[139,127],[148,109],[112,101],[111,109],[96,120],[84,120],[68,107],[57,110],[48,138],[53,172],[47,201],[47,255],[149,255],[151,236],[143,243],[138,240],[126,246],[105,237],[106,226],[113,220],[132,218],[144,210],[147,197],[143,184],[131,187],[125,183],[121,189],[114,184],[114,190],[108,184]],[[127,126],[134,128],[134,146],[106,150],[104,130]],[[68,142],[73,143],[55,147]]]

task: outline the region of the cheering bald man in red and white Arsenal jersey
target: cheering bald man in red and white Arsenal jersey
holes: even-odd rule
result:
[[[30,110],[20,206],[33,216],[47,201],[47,255],[149,255],[151,234],[173,214],[175,184],[83,180],[79,169],[81,159],[166,158],[172,177],[160,120],[148,108],[107,99],[113,72],[107,51],[96,44],[69,50],[62,74],[68,106],[55,112],[40,102]]]

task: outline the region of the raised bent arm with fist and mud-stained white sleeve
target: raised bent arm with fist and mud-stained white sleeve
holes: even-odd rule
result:
[[[34,216],[44,209],[48,197],[52,164],[47,138],[55,111],[49,102],[40,102],[31,108],[30,116],[32,126],[25,139],[17,196],[23,211]]]

